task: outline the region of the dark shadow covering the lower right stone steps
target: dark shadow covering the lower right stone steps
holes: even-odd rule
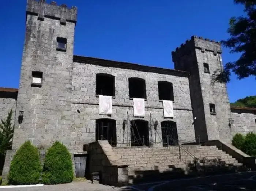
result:
[[[209,176],[222,173],[233,173],[246,170],[242,166],[226,164],[221,159],[206,160],[203,158],[195,163],[190,163],[187,167],[177,168],[175,165],[169,165],[169,169],[160,172],[158,166],[154,170],[135,171],[135,176],[129,176],[133,184],[146,182],[160,182],[165,180],[179,179],[184,177]],[[122,191],[132,191],[131,188],[122,188]]]

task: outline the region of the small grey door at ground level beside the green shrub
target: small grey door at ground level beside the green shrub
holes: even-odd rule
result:
[[[88,174],[88,157],[86,153],[74,154],[76,177],[85,177]]]

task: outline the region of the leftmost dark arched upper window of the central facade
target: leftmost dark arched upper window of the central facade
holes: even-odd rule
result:
[[[115,96],[115,77],[110,74],[96,74],[96,95]]]

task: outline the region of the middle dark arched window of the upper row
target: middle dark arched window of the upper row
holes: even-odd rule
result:
[[[147,99],[146,81],[137,77],[130,77],[129,83],[129,97],[130,98],[144,98]]]

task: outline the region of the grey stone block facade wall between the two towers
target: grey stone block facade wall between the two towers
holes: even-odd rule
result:
[[[96,74],[107,73],[115,76],[116,94],[111,116],[99,115],[99,98],[95,95]],[[133,101],[129,99],[128,78],[140,77],[146,80],[147,100],[145,101],[145,117],[133,117]],[[158,99],[158,81],[165,80],[173,83],[174,89],[174,117],[163,117],[163,104]],[[159,73],[141,72],[132,69],[107,68],[94,64],[73,64],[72,75],[72,141],[73,148],[82,149],[83,144],[95,141],[95,120],[109,118],[116,120],[117,146],[128,146],[130,141],[129,121],[143,119],[149,122],[152,129],[152,139],[158,142],[155,146],[162,146],[162,132],[160,122],[170,120],[177,123],[178,139],[191,141],[195,139],[193,116],[189,94],[188,77],[164,75]],[[80,113],[77,112],[80,111]],[[128,121],[123,130],[123,120]],[[153,124],[158,121],[157,132]],[[151,133],[149,133],[151,135]]]

